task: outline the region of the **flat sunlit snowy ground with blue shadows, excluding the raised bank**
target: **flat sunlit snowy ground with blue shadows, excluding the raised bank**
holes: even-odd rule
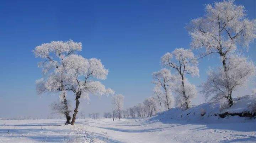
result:
[[[63,142],[63,139],[72,142],[86,133],[97,142],[113,143],[255,142],[256,139],[255,120],[225,124],[154,118],[76,121],[75,126],[64,126],[64,120],[0,120],[0,142]]]

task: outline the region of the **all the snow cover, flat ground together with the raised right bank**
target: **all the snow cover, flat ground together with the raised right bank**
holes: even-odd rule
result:
[[[234,98],[227,109],[212,103],[193,105],[188,110],[172,108],[149,118],[65,120],[0,120],[0,143],[5,142],[255,142],[255,117],[227,116],[223,112],[252,113],[255,95]],[[205,113],[205,114],[202,114]]]

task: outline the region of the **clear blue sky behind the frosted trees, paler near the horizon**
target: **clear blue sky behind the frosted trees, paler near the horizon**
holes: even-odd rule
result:
[[[109,69],[103,83],[125,96],[125,107],[151,96],[151,73],[159,70],[160,57],[175,48],[190,48],[186,23],[203,16],[204,4],[213,0],[129,1],[1,1],[0,5],[0,118],[48,116],[57,96],[36,95],[34,81],[42,77],[31,50],[45,42],[72,39],[82,42],[80,54],[100,58]],[[255,0],[238,0],[255,18]],[[255,42],[249,56],[255,61]],[[195,51],[196,53],[196,51]],[[199,63],[199,85],[206,79],[212,58]],[[249,91],[249,90],[248,90]],[[250,92],[249,92],[250,93]],[[73,97],[69,96],[74,102]],[[194,103],[203,102],[199,97]],[[110,97],[91,97],[80,111],[110,110]],[[31,106],[30,106],[31,105]],[[73,110],[73,109],[72,109]]]

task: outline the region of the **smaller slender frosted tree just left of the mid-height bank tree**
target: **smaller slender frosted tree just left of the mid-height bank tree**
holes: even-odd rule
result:
[[[169,110],[174,103],[174,99],[171,95],[171,86],[173,85],[174,77],[168,69],[161,69],[160,71],[154,72],[152,75],[154,79],[152,82],[156,85],[154,87],[154,94],[159,97],[164,95],[164,102]],[[161,87],[164,92],[161,90]]]

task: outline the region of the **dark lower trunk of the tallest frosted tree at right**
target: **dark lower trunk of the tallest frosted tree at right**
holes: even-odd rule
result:
[[[226,96],[226,98],[228,99],[228,103],[229,103],[229,107],[231,107],[233,105],[233,99],[232,99],[232,89],[229,86],[229,81],[228,81],[228,70],[227,70],[227,66],[226,66],[226,56],[224,54],[221,54],[223,60],[222,60],[222,64],[223,64],[223,68],[224,68],[224,72],[225,72],[225,78],[226,78],[226,88],[228,90],[228,95]]]

